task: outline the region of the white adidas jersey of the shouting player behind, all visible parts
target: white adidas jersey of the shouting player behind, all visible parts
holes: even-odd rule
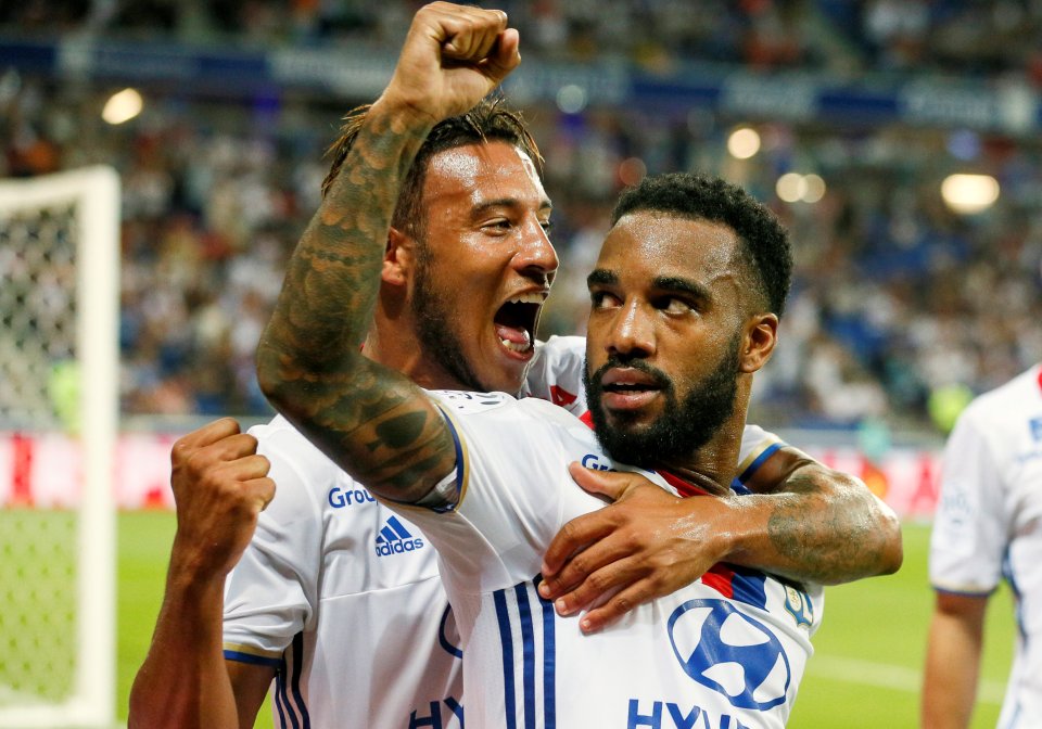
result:
[[[537,346],[526,391],[584,413],[584,340]],[[459,641],[432,545],[283,418],[250,432],[277,491],[227,581],[225,656],[277,670],[278,727],[461,727]],[[747,426],[734,488],[782,445]]]

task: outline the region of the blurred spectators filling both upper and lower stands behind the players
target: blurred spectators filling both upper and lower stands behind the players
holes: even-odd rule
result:
[[[186,41],[237,29],[242,42],[336,43],[401,28],[416,4],[153,0],[59,11],[27,2],[5,7],[0,29],[160,27]],[[526,52],[547,56],[681,56],[837,74],[943,67],[1042,82],[1042,51],[1025,40],[1039,35],[1042,3],[1027,0],[745,0],[700,3],[697,14],[678,12],[677,0],[500,4],[532,39]],[[243,103],[167,93],[110,126],[99,117],[109,91],[0,69],[0,177],[100,162],[120,171],[125,413],[268,413],[254,347],[317,207],[321,152],[346,108],[292,95]],[[526,105],[526,115],[547,159],[563,268],[544,336],[581,331],[583,277],[619,190],[645,171],[699,168],[746,186],[793,232],[797,283],[783,344],[758,380],[753,413],[763,422],[944,429],[945,398],[994,387],[1042,359],[1037,143],[968,130],[760,123],[760,152],[737,159],[726,149],[737,120],[708,113]],[[999,179],[993,208],[960,216],[944,206],[940,180],[961,167]],[[793,169],[825,180],[819,202],[778,199],[778,176]]]

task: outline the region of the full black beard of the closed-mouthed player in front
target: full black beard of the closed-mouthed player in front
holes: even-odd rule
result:
[[[609,357],[608,362],[593,375],[588,367],[584,367],[586,402],[597,439],[608,455],[623,463],[651,470],[683,463],[709,443],[735,411],[740,334],[735,333],[716,367],[695,384],[682,402],[676,398],[673,381],[641,359]],[[609,423],[600,399],[603,394],[600,383],[605,372],[613,367],[639,370],[655,378],[656,384],[661,387],[665,407],[650,425],[632,426],[627,422],[632,419],[626,413],[618,412],[612,414],[614,424]]]

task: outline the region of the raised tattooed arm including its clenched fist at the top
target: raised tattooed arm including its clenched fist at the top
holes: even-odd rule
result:
[[[257,349],[277,410],[371,490],[416,501],[455,466],[441,414],[405,376],[360,355],[402,182],[433,126],[462,113],[520,62],[500,11],[435,2],[412,21],[289,265]]]

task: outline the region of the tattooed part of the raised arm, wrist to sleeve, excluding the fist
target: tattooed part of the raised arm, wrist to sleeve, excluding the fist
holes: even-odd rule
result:
[[[429,122],[373,105],[294,251],[257,349],[277,410],[377,493],[420,498],[455,463],[440,413],[401,374],[359,354],[391,217]]]

